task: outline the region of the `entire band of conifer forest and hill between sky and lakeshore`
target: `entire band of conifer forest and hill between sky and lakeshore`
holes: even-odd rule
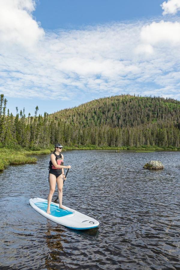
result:
[[[66,146],[180,148],[180,101],[159,97],[119,95],[44,116],[13,116],[1,95],[1,146],[46,148]]]

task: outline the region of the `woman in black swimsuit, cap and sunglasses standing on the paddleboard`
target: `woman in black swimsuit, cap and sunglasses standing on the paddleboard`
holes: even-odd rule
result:
[[[52,195],[55,191],[55,183],[58,185],[58,197],[59,197],[59,208],[66,209],[62,206],[62,187],[63,187],[63,178],[65,179],[64,169],[70,169],[71,166],[64,166],[63,164],[63,155],[61,155],[63,146],[60,143],[55,144],[55,150],[51,154],[51,161],[49,162],[49,188],[50,192],[48,195],[48,206],[47,214],[50,214],[50,204],[52,201]],[[62,164],[62,165],[59,165]]]

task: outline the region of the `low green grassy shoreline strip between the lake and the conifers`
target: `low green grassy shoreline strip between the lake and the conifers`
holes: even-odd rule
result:
[[[29,157],[30,155],[47,155],[53,152],[53,147],[51,149],[37,149],[37,150],[27,150],[27,149],[7,149],[0,148],[0,171],[3,171],[9,165],[18,164],[30,164],[36,163],[37,158]],[[109,146],[64,146],[63,151],[68,150],[112,150],[112,151],[135,151],[140,153],[154,152],[154,151],[180,151],[180,147],[158,147],[158,146],[141,146],[141,147],[109,147]]]

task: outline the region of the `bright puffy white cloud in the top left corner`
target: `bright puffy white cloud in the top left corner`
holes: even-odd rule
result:
[[[30,48],[44,36],[44,30],[32,18],[35,1],[0,0],[0,43]]]

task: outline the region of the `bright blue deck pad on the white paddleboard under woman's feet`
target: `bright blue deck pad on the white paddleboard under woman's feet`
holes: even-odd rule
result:
[[[44,212],[47,211],[47,202],[36,202],[35,205],[38,206]],[[53,217],[64,217],[64,216],[73,214],[73,212],[69,210],[61,209],[57,205],[54,205],[52,203],[50,205],[50,211],[51,211],[50,215]]]

